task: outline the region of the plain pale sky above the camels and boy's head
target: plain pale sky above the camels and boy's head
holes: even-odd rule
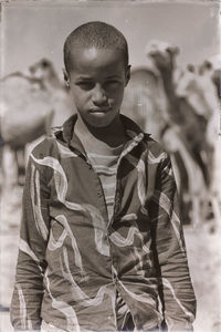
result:
[[[60,76],[67,34],[92,20],[108,22],[126,37],[133,66],[145,65],[152,40],[180,48],[177,62],[200,64],[220,52],[219,1],[8,1],[1,11],[1,75],[25,71],[42,58]]]

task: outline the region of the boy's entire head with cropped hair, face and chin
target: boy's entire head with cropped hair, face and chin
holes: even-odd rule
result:
[[[125,37],[104,22],[75,29],[64,43],[64,79],[82,120],[92,126],[109,125],[119,114],[129,80]]]

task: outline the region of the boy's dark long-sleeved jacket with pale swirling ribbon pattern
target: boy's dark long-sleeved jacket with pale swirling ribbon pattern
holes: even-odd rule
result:
[[[38,330],[43,319],[70,332],[116,331],[116,291],[136,330],[164,319],[169,331],[192,329],[196,298],[170,158],[122,120],[130,138],[118,159],[110,221],[74,134],[76,117],[30,155],[11,303],[15,330]]]

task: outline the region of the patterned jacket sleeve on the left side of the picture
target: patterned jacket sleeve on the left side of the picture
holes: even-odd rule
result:
[[[31,155],[22,199],[19,257],[11,301],[11,323],[15,331],[39,331],[45,249],[49,237],[50,193],[43,166]]]

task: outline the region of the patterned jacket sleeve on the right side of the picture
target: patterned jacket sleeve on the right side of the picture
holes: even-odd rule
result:
[[[168,331],[192,331],[196,297],[189,274],[179,201],[170,158],[158,165],[151,199],[152,251]]]

